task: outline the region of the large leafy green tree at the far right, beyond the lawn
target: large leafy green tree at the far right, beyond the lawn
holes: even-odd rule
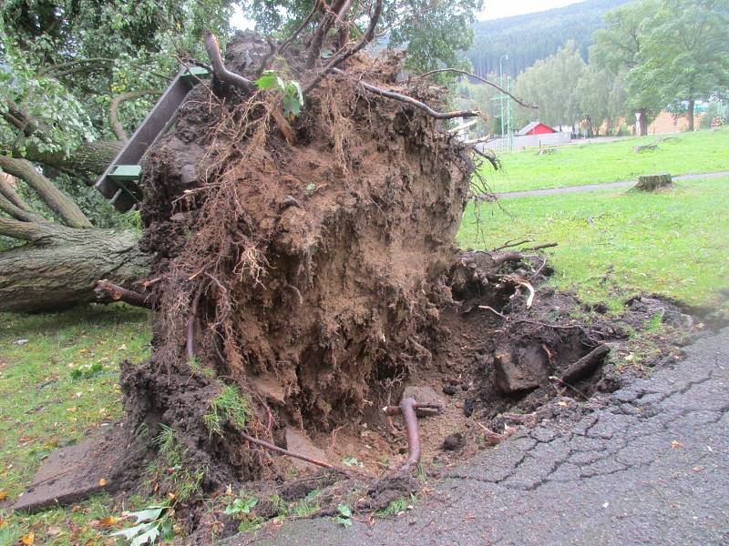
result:
[[[654,116],[729,87],[729,4],[725,0],[644,0],[606,15],[590,62],[626,73],[626,106]],[[644,122],[647,119],[644,119]]]

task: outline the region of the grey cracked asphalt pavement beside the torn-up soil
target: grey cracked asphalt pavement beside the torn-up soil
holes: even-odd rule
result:
[[[256,543],[729,546],[729,329],[686,352],[581,418],[480,452],[396,519],[291,521]]]

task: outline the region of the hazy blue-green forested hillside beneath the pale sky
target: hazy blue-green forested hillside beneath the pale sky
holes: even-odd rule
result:
[[[602,26],[602,15],[628,0],[589,0],[559,9],[518,15],[474,25],[475,39],[468,58],[478,74],[498,72],[498,60],[504,72],[517,76],[521,71],[557,52],[573,40],[587,60],[592,33]]]

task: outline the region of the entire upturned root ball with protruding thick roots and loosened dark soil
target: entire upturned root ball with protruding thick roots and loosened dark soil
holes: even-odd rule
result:
[[[291,35],[237,35],[225,58],[206,32],[209,60],[188,62],[210,63],[213,77],[144,165],[145,291],[102,288],[153,309],[152,355],[122,365],[127,420],[84,463],[103,459],[98,487],[140,479],[167,495],[189,531],[210,516],[203,499],[281,481],[292,458],[356,478],[334,439],[364,424],[394,458],[372,490],[412,485],[418,412],[439,409],[404,395],[423,370],[441,380],[498,364],[484,388],[508,407],[551,391],[566,365],[580,361],[571,373],[582,376],[604,357],[579,360],[597,343],[579,325],[505,314],[531,308],[546,259],[455,245],[484,156],[449,125],[479,113],[451,111],[431,74],[403,74],[403,54],[365,53],[383,7],[316,2]],[[331,438],[335,459],[297,450],[306,435]],[[207,523],[202,543],[220,536]]]

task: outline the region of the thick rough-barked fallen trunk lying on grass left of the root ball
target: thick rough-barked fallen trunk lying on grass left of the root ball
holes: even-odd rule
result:
[[[0,311],[48,311],[96,301],[100,278],[135,288],[148,258],[139,235],[46,224],[26,245],[0,252]]]

